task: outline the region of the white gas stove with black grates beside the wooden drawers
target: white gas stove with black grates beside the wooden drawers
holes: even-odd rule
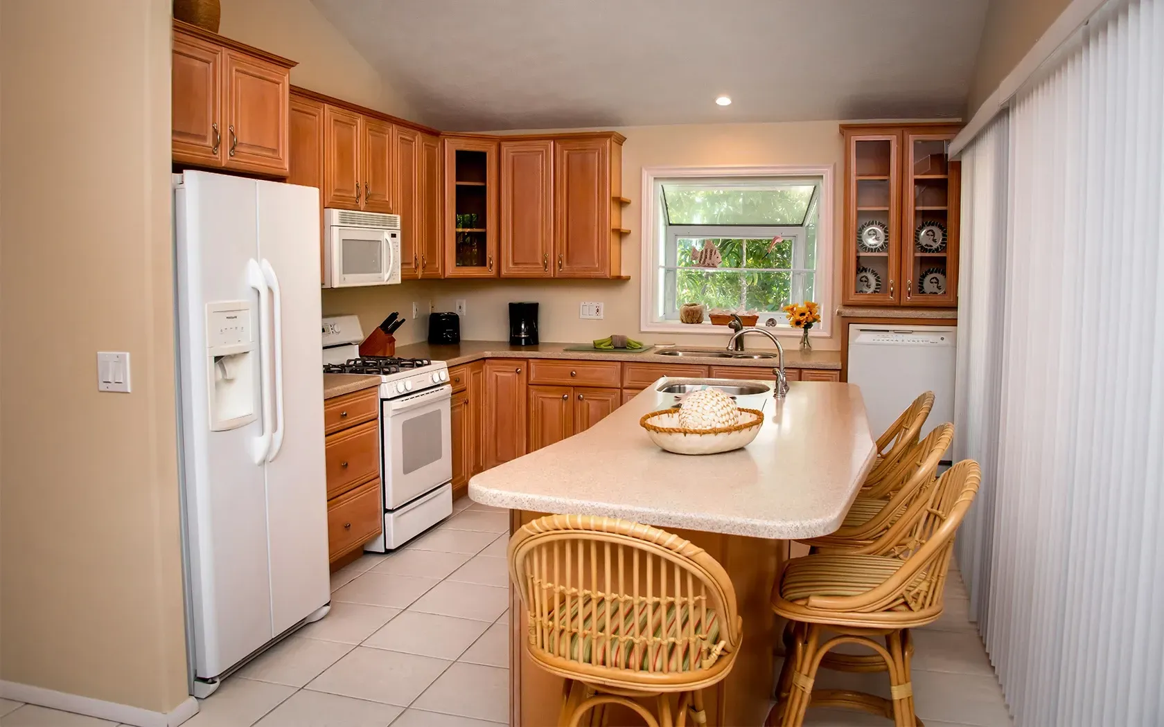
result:
[[[360,356],[354,315],[325,318],[324,372],[378,375],[384,533],[364,550],[399,548],[453,514],[448,366],[443,361]]]

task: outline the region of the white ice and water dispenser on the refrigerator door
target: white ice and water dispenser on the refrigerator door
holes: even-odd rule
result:
[[[235,429],[257,416],[258,354],[253,330],[250,302],[230,300],[206,305],[206,377],[212,432]]]

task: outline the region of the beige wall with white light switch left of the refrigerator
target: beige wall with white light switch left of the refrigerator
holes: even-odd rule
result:
[[[170,0],[0,0],[0,678],[152,711],[186,697],[169,120]]]

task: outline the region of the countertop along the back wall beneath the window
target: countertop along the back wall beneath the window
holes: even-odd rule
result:
[[[801,352],[795,342],[785,347],[785,368],[787,369],[840,369],[840,351]],[[654,349],[641,354],[625,351],[566,351],[567,345],[577,343],[540,343],[538,345],[510,345],[502,341],[461,341],[453,345],[430,345],[428,343],[410,343],[396,349],[397,356],[406,358],[432,358],[443,361],[450,366],[471,363],[482,358],[574,358],[584,361],[638,361],[644,363],[696,364],[714,366],[774,366],[774,358],[717,358],[701,356],[661,356]],[[680,345],[682,349],[723,350],[707,345]],[[767,352],[768,349],[757,349]]]

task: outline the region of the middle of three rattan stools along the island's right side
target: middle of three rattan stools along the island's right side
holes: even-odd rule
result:
[[[892,496],[879,499],[859,494],[839,529],[800,542],[811,546],[815,553],[866,553],[886,534],[893,542],[900,540],[909,523],[924,514],[930,490],[937,479],[938,463],[950,449],[953,425],[935,427],[924,440],[909,447],[897,458],[894,469],[908,475]]]

